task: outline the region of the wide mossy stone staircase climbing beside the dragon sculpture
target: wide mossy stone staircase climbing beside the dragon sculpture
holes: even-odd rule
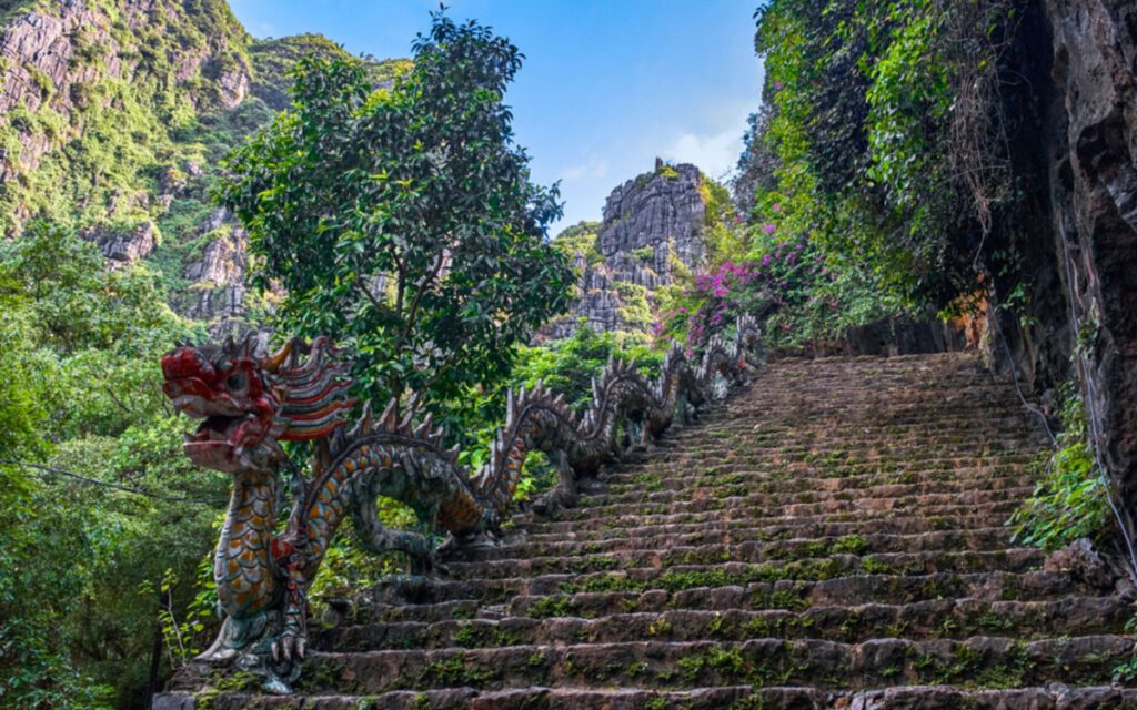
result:
[[[780,360],[553,520],[198,708],[1137,708],[1132,608],[1004,523],[1047,450],[966,354]]]

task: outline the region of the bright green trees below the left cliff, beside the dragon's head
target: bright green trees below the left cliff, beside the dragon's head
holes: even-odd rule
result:
[[[196,578],[227,491],[180,456],[158,390],[158,354],[194,333],[152,272],[42,223],[0,244],[0,705],[126,707],[159,608],[193,595],[163,580]]]

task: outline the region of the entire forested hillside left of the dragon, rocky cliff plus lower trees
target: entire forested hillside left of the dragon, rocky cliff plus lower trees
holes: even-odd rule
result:
[[[210,193],[308,56],[348,55],[256,40],[223,1],[0,5],[0,705],[138,705],[193,648],[172,625],[227,488],[183,462],[157,358],[263,320]]]

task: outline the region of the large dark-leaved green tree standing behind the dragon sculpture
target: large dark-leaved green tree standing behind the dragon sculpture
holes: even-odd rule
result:
[[[432,19],[390,90],[359,61],[301,61],[292,109],[232,156],[221,195],[256,283],[288,293],[281,331],[350,344],[372,398],[410,387],[437,406],[504,378],[573,274],[546,237],[556,186],[530,182],[503,103],[521,55]]]

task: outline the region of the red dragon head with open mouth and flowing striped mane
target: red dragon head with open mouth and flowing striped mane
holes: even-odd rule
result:
[[[161,358],[163,392],[176,411],[202,419],[182,449],[206,468],[275,470],[284,460],[280,441],[319,438],[346,423],[355,400],[349,365],[335,354],[326,337],[291,341],[265,358],[254,356],[251,337],[171,350]]]

